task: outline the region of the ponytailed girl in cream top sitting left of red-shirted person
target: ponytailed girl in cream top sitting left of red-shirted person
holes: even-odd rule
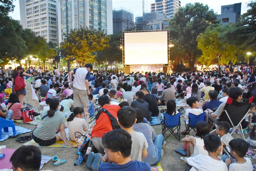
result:
[[[85,118],[85,120],[83,118]],[[84,113],[83,108],[75,107],[73,113],[70,114],[67,121],[68,121],[69,137],[72,141],[76,142],[75,132],[79,132],[82,135],[85,135],[86,133],[91,134],[88,131],[89,113]]]

